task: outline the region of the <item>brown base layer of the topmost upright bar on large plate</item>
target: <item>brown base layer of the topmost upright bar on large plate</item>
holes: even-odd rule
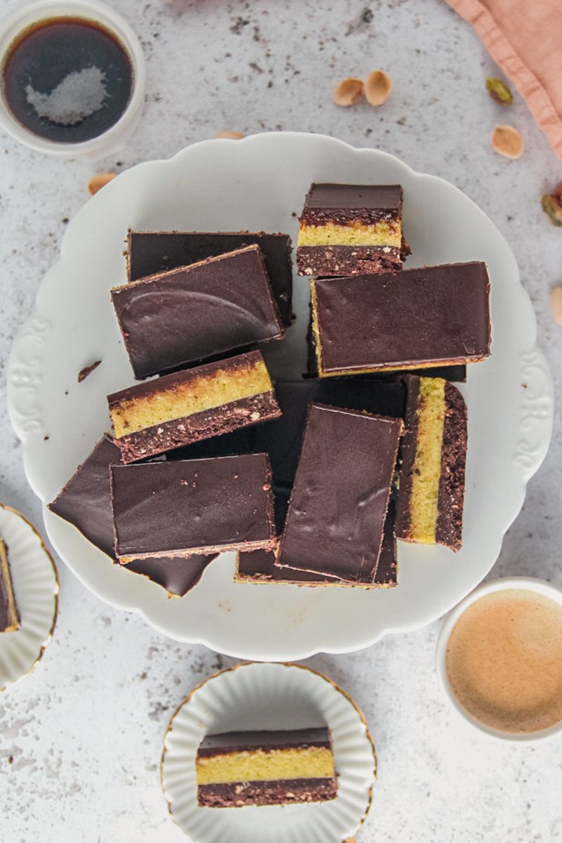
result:
[[[299,246],[299,275],[313,277],[379,275],[402,269],[395,246]]]

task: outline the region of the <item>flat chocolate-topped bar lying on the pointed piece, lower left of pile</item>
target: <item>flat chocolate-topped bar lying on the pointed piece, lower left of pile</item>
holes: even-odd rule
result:
[[[275,546],[266,454],[111,467],[115,556],[122,564]]]

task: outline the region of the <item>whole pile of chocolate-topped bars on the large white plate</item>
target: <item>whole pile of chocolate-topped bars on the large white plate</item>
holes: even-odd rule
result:
[[[367,589],[398,583],[397,539],[458,550],[452,381],[490,354],[490,282],[478,261],[403,269],[402,208],[399,185],[312,185],[295,380],[262,356],[292,323],[286,235],[130,232],[110,295],[137,383],[51,510],[178,596],[226,550],[236,583]]]

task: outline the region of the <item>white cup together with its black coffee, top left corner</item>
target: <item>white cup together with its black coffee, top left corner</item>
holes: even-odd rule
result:
[[[0,129],[66,158],[120,148],[142,113],[142,47],[99,0],[39,0],[0,21]]]

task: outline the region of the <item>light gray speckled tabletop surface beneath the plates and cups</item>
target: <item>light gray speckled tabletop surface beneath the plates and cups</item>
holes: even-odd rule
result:
[[[2,13],[19,0],[2,0]],[[549,288],[562,282],[562,233],[540,210],[562,163],[521,99],[509,111],[484,91],[495,66],[442,0],[113,0],[147,56],[142,124],[118,158],[51,160],[0,137],[0,498],[40,525],[21,448],[8,423],[5,365],[64,219],[87,200],[95,172],[167,157],[222,129],[325,132],[395,153],[458,185],[511,244],[538,315],[556,389],[562,328]],[[339,110],[332,89],[384,67],[387,105]],[[495,122],[525,137],[522,160],[490,149]],[[119,163],[117,163],[119,161]],[[562,583],[560,424],[506,535],[491,577],[534,574]],[[494,478],[490,477],[490,482]],[[195,683],[231,659],[180,646],[136,615],[101,604],[62,564],[61,612],[45,657],[0,695],[2,839],[13,843],[185,838],[158,782],[163,731]],[[309,660],[354,695],[377,743],[379,776],[361,843],[559,840],[560,743],[492,744],[453,719],[433,670],[439,624],[388,637],[365,652]]]

